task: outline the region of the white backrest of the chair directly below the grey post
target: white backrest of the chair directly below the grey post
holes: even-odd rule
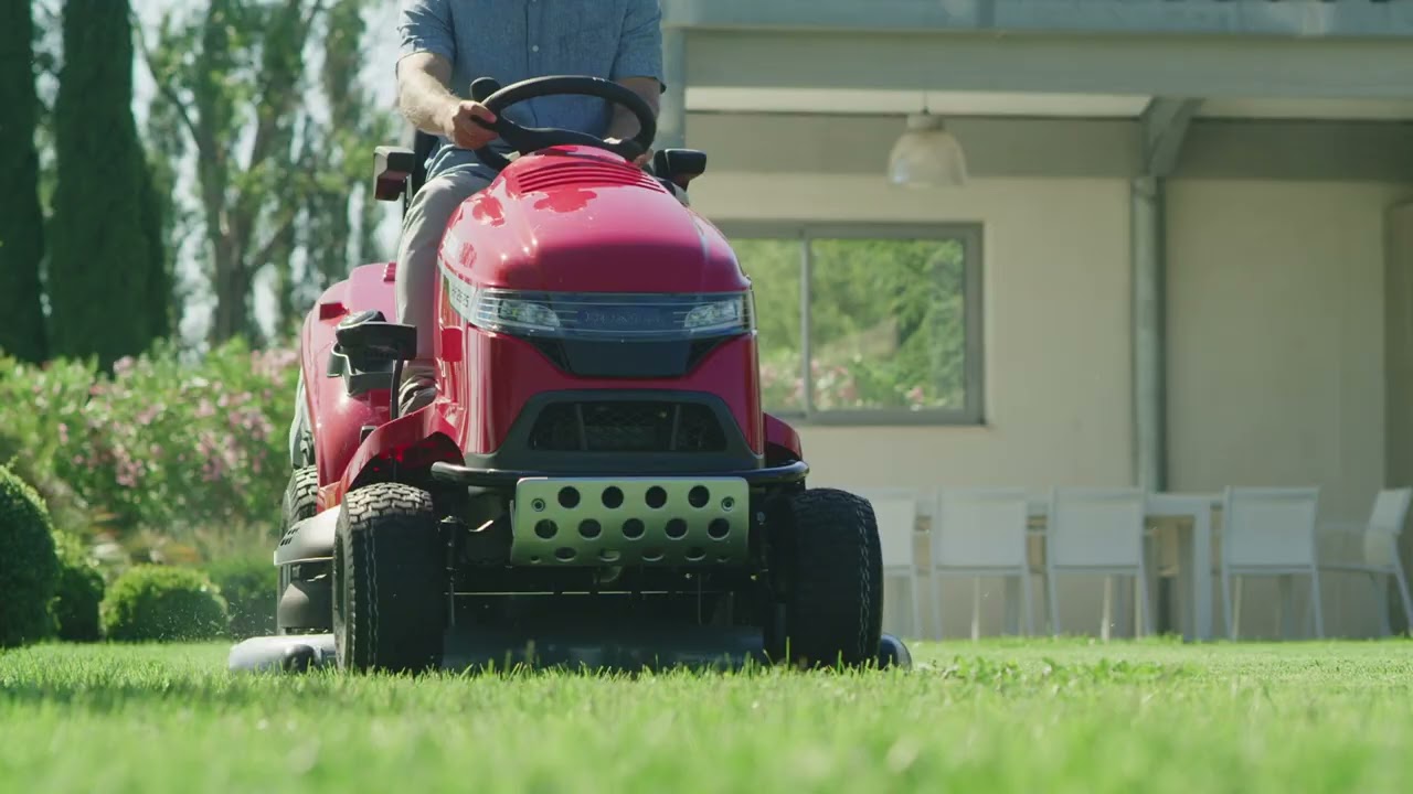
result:
[[[1046,521],[1046,564],[1056,568],[1136,568],[1143,561],[1143,492],[1057,487]]]

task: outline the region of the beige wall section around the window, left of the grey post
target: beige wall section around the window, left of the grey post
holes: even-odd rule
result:
[[[913,192],[866,177],[716,174],[694,188],[692,201],[718,222],[983,225],[986,427],[801,427],[815,482],[1129,483],[1122,181],[996,179],[965,192]]]

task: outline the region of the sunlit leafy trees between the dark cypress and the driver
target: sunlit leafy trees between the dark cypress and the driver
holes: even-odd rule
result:
[[[205,242],[194,254],[216,298],[213,343],[261,336],[254,288],[264,271],[287,324],[298,285],[312,292],[372,253],[350,246],[367,235],[348,220],[372,212],[369,153],[390,129],[359,89],[370,6],[209,0],[168,10],[146,49],[160,92],[154,144],[168,161],[194,162],[191,223]]]

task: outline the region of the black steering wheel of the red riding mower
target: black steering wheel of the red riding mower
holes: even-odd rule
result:
[[[524,127],[506,119],[504,110],[512,105],[519,105],[527,99],[555,95],[593,96],[613,105],[622,105],[637,117],[637,134],[630,140],[609,143],[605,138],[578,130]],[[653,116],[653,109],[647,106],[647,102],[622,83],[602,78],[554,75],[520,81],[504,88],[493,78],[479,78],[471,83],[471,97],[496,114],[493,124],[480,119],[473,119],[475,123],[499,134],[500,140],[510,144],[520,154],[530,154],[551,146],[592,146],[632,161],[649,151],[653,147],[653,140],[657,137],[657,119]],[[510,160],[499,151],[492,150],[489,144],[478,148],[476,157],[497,172],[510,165]]]

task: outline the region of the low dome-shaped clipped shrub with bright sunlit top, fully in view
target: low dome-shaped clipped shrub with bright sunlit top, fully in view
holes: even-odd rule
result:
[[[226,599],[194,568],[138,565],[109,588],[102,617],[120,643],[213,640],[226,630]]]

